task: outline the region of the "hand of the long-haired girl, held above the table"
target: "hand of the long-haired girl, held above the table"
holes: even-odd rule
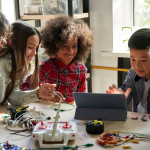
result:
[[[52,98],[54,95],[55,87],[56,84],[49,84],[49,83],[42,84],[37,91],[37,97]]]

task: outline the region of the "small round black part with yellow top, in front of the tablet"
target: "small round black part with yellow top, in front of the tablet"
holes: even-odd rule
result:
[[[101,134],[104,132],[104,123],[100,120],[92,120],[86,123],[86,132],[90,134]]]

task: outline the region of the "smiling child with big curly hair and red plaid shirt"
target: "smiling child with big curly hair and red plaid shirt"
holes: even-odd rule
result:
[[[56,84],[66,103],[73,103],[73,92],[85,92],[87,69],[83,63],[93,44],[88,25],[69,16],[58,15],[47,21],[41,30],[42,47],[50,56],[40,65],[40,83]],[[22,84],[28,89],[29,78]],[[58,97],[53,97],[54,102]]]

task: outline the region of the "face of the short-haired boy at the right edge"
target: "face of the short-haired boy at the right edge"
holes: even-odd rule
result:
[[[130,50],[130,61],[133,70],[140,77],[150,79],[150,51],[145,50]]]

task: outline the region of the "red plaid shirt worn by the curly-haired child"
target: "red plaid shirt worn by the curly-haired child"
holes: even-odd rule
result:
[[[57,57],[49,58],[41,62],[40,84],[57,84],[59,91],[66,98],[67,103],[74,101],[73,92],[85,92],[86,90],[86,67],[83,64],[63,64]],[[28,90],[29,78],[21,85],[21,89]]]

